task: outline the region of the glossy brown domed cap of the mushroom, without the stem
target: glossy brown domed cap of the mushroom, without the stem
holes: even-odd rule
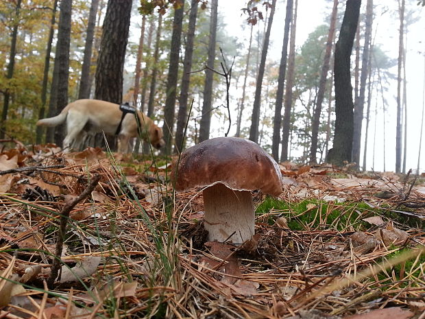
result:
[[[175,173],[178,191],[222,183],[238,191],[282,193],[276,161],[258,144],[239,137],[217,137],[189,147],[180,157],[177,179]]]

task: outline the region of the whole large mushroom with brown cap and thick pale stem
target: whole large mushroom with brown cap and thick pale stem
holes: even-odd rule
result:
[[[204,225],[210,241],[242,244],[254,235],[250,191],[278,196],[282,175],[276,161],[258,144],[238,137],[217,137],[189,147],[173,171],[175,189],[205,187]]]

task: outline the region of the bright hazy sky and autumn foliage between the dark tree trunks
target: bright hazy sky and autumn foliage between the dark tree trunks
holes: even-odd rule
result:
[[[63,2],[63,1],[62,1]],[[146,2],[146,1],[145,1]],[[149,1],[148,1],[149,2]],[[294,30],[293,40],[289,40],[287,47],[288,55],[292,47],[295,49],[293,84],[290,86],[292,97],[289,99],[292,107],[291,126],[289,138],[288,159],[298,163],[308,163],[311,159],[309,151],[311,146],[311,123],[319,90],[320,70],[324,61],[326,38],[329,32],[330,14],[334,1],[293,1],[292,10],[294,15],[291,30]],[[336,1],[338,2],[338,1]],[[362,1],[361,17],[359,19],[359,32],[352,51],[352,86],[354,95],[359,95],[360,74],[363,71],[362,54],[365,43],[366,27],[366,5],[368,1]],[[51,25],[52,8],[55,1],[34,0],[2,1],[0,8],[0,61],[4,72],[0,79],[0,91],[4,102],[4,93],[10,93],[10,106],[7,119],[3,116],[5,123],[4,131],[9,137],[14,137],[24,143],[36,143],[35,123],[39,117],[42,105],[42,78],[45,69],[45,52],[49,43],[49,29]],[[270,1],[271,3],[271,1]],[[60,3],[58,3],[60,4]],[[84,45],[86,44],[86,29],[88,24],[88,12],[90,1],[72,1],[71,39],[70,39],[70,64],[69,64],[69,102],[78,98],[82,61],[84,58]],[[417,5],[417,1],[406,1],[404,8],[404,29],[402,46],[405,51],[405,73],[398,77],[398,58],[400,57],[399,32],[400,32],[400,5],[404,1],[378,1],[373,4],[373,23],[371,35],[372,54],[369,57],[370,78],[366,84],[364,117],[366,116],[366,105],[369,102],[369,139],[367,141],[367,157],[364,167],[374,170],[395,170],[396,163],[396,108],[398,95],[403,95],[407,117],[403,119],[406,130],[402,130],[406,139],[402,169],[424,169],[424,160],[418,160],[420,151],[422,110],[424,108],[424,62],[425,41],[424,32],[425,19],[424,8]],[[93,56],[91,58],[90,83],[92,83],[90,97],[95,93],[95,70],[97,64],[97,52],[99,51],[101,26],[106,14],[107,1],[100,0],[98,4],[95,35],[93,40]],[[127,93],[134,86],[134,74],[136,69],[136,57],[141,38],[142,16],[138,8],[141,3],[132,1],[132,12],[130,22],[130,34],[126,47],[123,93]],[[20,8],[16,14],[16,8]],[[202,7],[202,8],[201,8]],[[202,70],[208,59],[208,42],[210,35],[210,7],[211,3],[199,5],[196,29],[195,45],[193,53],[192,70]],[[271,38],[268,45],[267,60],[265,63],[265,75],[262,84],[262,95],[260,99],[260,121],[258,123],[258,142],[267,151],[271,152],[271,141],[274,126],[274,109],[276,105],[276,90],[278,87],[279,60],[282,54],[282,38],[284,37],[286,1],[277,1],[274,21],[271,25]],[[262,13],[263,19],[257,19],[252,26],[252,42],[250,48],[251,25],[247,23],[248,16],[243,8],[256,8]],[[267,9],[268,8],[268,9]],[[267,9],[267,10],[266,10]],[[345,1],[339,1],[337,12],[337,27],[335,40],[339,35]],[[158,61],[154,62],[154,51],[156,49],[156,35],[158,32],[158,12],[147,14],[145,29],[143,32],[143,56],[141,56],[141,82],[140,99],[145,95],[144,108],[147,109],[149,90],[152,80],[155,78],[156,88],[152,95],[154,101],[153,117],[162,122],[165,102],[167,99],[167,75],[169,73],[171,34],[173,29],[174,11],[172,6],[162,10],[162,31],[158,43]],[[178,69],[178,89],[182,78],[182,60],[184,58],[184,46],[186,44],[186,32],[188,30],[190,3],[186,1],[182,23],[182,46]],[[249,10],[248,10],[249,11]],[[232,79],[230,82],[230,115],[232,126],[230,135],[236,134],[236,119],[241,115],[241,137],[250,136],[252,104],[258,81],[258,69],[260,67],[260,56],[263,51],[263,43],[269,14],[271,8],[259,1],[219,1],[217,41],[215,43],[215,69],[222,71],[222,62],[219,48],[223,51],[226,64],[232,67]],[[16,19],[16,16],[18,17]],[[56,12],[58,21],[59,10]],[[57,28],[57,23],[53,25]],[[14,59],[14,72],[8,75],[10,67],[11,39],[16,29],[16,56]],[[53,47],[50,55],[51,67],[49,69],[49,81],[47,89],[50,90],[51,75],[53,74],[53,60],[56,51],[56,33],[53,36]],[[357,40],[358,39],[358,40]],[[332,47],[333,52],[333,47]],[[247,63],[247,56],[250,61]],[[333,56],[333,54],[332,54]],[[289,57],[288,57],[289,59]],[[290,59],[289,59],[290,60]],[[356,60],[359,62],[356,63]],[[288,63],[288,68],[289,68]],[[152,66],[156,65],[156,68]],[[247,66],[247,68],[245,68]],[[156,74],[154,74],[156,69]],[[403,70],[403,69],[401,69]],[[245,71],[247,71],[245,76]],[[287,71],[287,75],[289,74]],[[246,78],[245,97],[243,98],[243,82]],[[327,73],[326,93],[322,106],[319,134],[317,160],[324,161],[327,150],[332,147],[332,136],[334,130],[334,96],[332,93],[332,58],[331,66]],[[404,78],[406,84],[398,93],[398,80]],[[286,81],[287,78],[285,79]],[[189,88],[190,99],[193,99],[193,110],[189,118],[186,145],[193,145],[199,139],[199,125],[202,117],[202,104],[204,99],[205,72],[191,74],[191,86]],[[370,83],[370,85],[369,85]],[[402,82],[400,82],[402,83]],[[400,84],[402,86],[402,84]],[[287,91],[287,84],[284,90]],[[145,93],[143,93],[145,91]],[[287,93],[285,93],[287,94]],[[125,94],[124,94],[125,95]],[[127,95],[128,96],[128,95]],[[401,96],[400,96],[401,97]],[[49,94],[48,94],[49,99]],[[140,99],[138,105],[140,106]],[[244,102],[242,102],[244,99]],[[286,95],[285,95],[286,99]],[[228,126],[228,112],[226,106],[226,81],[220,75],[214,75],[213,99],[211,112],[212,124],[210,126],[210,137],[223,136]],[[49,101],[47,101],[47,104]],[[241,112],[241,105],[245,109]],[[3,114],[4,114],[4,103]],[[175,108],[175,115],[178,113]],[[405,113],[403,113],[405,114]],[[367,119],[363,119],[361,161],[363,165],[363,152],[365,145]],[[162,124],[161,124],[162,126]],[[422,133],[423,135],[423,133]],[[282,159],[282,158],[281,158]]]

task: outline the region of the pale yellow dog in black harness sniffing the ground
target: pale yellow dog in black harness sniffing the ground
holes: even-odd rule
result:
[[[162,129],[154,121],[137,110],[138,122],[133,113],[120,110],[119,104],[99,99],[77,99],[64,107],[56,117],[40,119],[37,126],[58,126],[66,121],[64,150],[80,150],[84,142],[96,133],[118,135],[118,152],[130,151],[130,139],[138,137],[140,126],[141,139],[151,143],[156,149],[165,145]]]

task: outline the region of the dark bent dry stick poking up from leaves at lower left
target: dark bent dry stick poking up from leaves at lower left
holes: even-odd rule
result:
[[[58,238],[56,239],[55,259],[53,259],[53,263],[51,265],[51,273],[49,279],[47,279],[47,285],[50,289],[53,288],[53,283],[55,282],[55,279],[59,273],[59,268],[61,264],[60,256],[62,254],[62,247],[64,244],[64,237],[66,233],[66,224],[68,224],[69,220],[69,213],[71,213],[72,209],[75,207],[76,204],[78,204],[90,195],[93,189],[95,189],[99,180],[99,174],[93,176],[92,180],[90,181],[90,184],[88,184],[88,186],[86,187],[86,189],[84,189],[80,196],[75,198],[75,200],[73,200],[72,202],[66,203],[65,206],[62,208],[62,211],[60,212],[60,227],[58,231]]]

